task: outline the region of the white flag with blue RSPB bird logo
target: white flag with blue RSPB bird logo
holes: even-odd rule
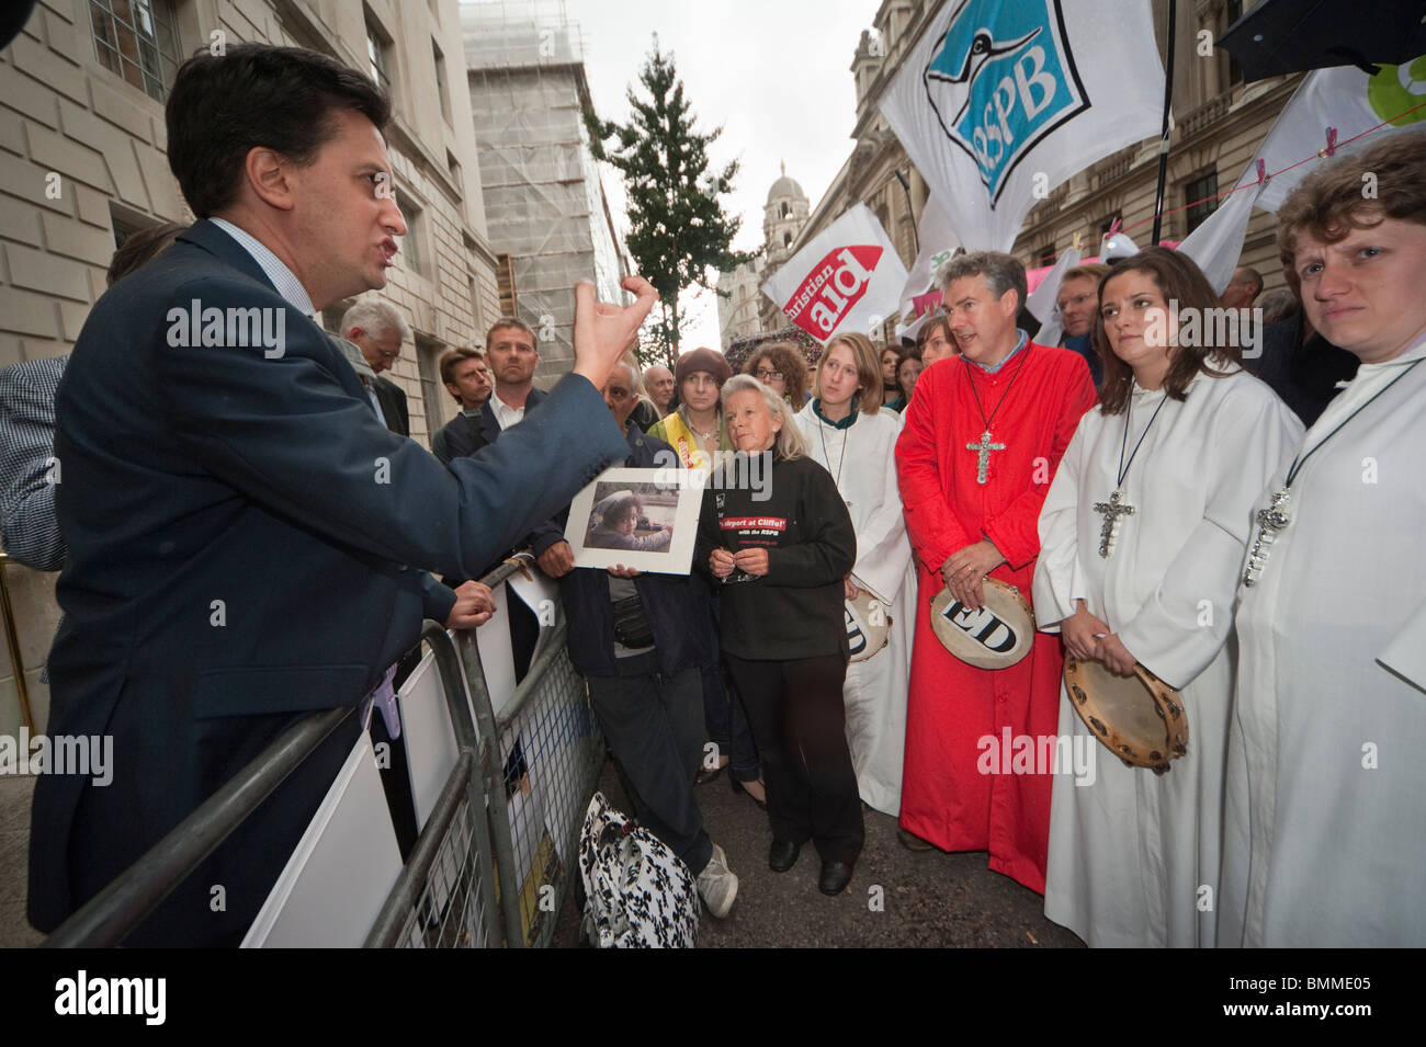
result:
[[[947,0],[881,111],[971,251],[1164,113],[1149,0]]]

